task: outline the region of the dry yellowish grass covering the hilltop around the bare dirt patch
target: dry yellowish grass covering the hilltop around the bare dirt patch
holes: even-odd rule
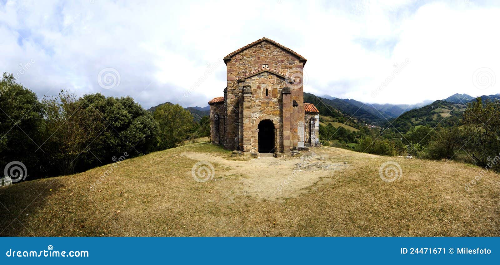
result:
[[[100,184],[112,165],[0,188],[0,236],[500,236],[496,174],[466,192],[464,184],[480,168],[330,147],[313,151],[321,157],[315,162],[347,166],[299,172],[309,186],[270,199],[256,196],[263,188],[252,181],[284,179],[291,169],[273,167],[298,158],[256,161],[269,161],[270,173],[245,174],[238,166],[256,162],[232,163],[244,159],[207,143],[127,159]],[[213,157],[213,180],[193,180],[198,160],[181,155],[192,153]],[[386,161],[399,163],[401,179],[381,181]]]

